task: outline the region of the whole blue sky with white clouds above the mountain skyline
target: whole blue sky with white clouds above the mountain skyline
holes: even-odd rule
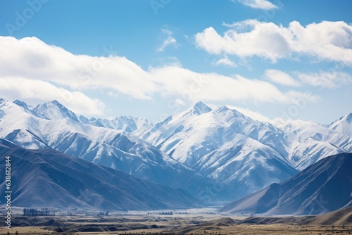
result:
[[[0,96],[159,121],[203,101],[352,112],[351,1],[0,1]]]

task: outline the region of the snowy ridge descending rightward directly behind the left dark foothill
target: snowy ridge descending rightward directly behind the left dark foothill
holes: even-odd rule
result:
[[[53,120],[37,118],[5,100],[0,101],[0,110],[4,111],[0,136],[19,146],[54,148],[151,182],[185,189],[192,195],[213,184],[207,177],[127,132],[87,125],[71,118],[58,119],[62,116],[54,113],[50,113],[51,118],[56,117]]]

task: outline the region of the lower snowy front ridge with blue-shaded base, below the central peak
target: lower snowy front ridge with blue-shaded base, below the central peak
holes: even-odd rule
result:
[[[241,198],[297,173],[272,148],[243,134],[234,134],[232,141],[204,155],[193,169],[235,189],[232,198]]]

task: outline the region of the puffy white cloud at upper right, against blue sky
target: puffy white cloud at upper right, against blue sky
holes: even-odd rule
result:
[[[241,58],[259,56],[272,63],[282,58],[304,55],[315,60],[318,58],[352,65],[352,25],[342,21],[323,21],[306,27],[293,21],[289,27],[283,27],[245,20],[227,26],[232,28],[223,36],[213,27],[197,33],[196,46],[212,54]]]

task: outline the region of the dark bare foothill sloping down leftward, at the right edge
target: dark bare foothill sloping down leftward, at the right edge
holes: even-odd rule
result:
[[[318,215],[352,205],[352,153],[310,165],[287,181],[271,184],[225,205],[220,212]]]

